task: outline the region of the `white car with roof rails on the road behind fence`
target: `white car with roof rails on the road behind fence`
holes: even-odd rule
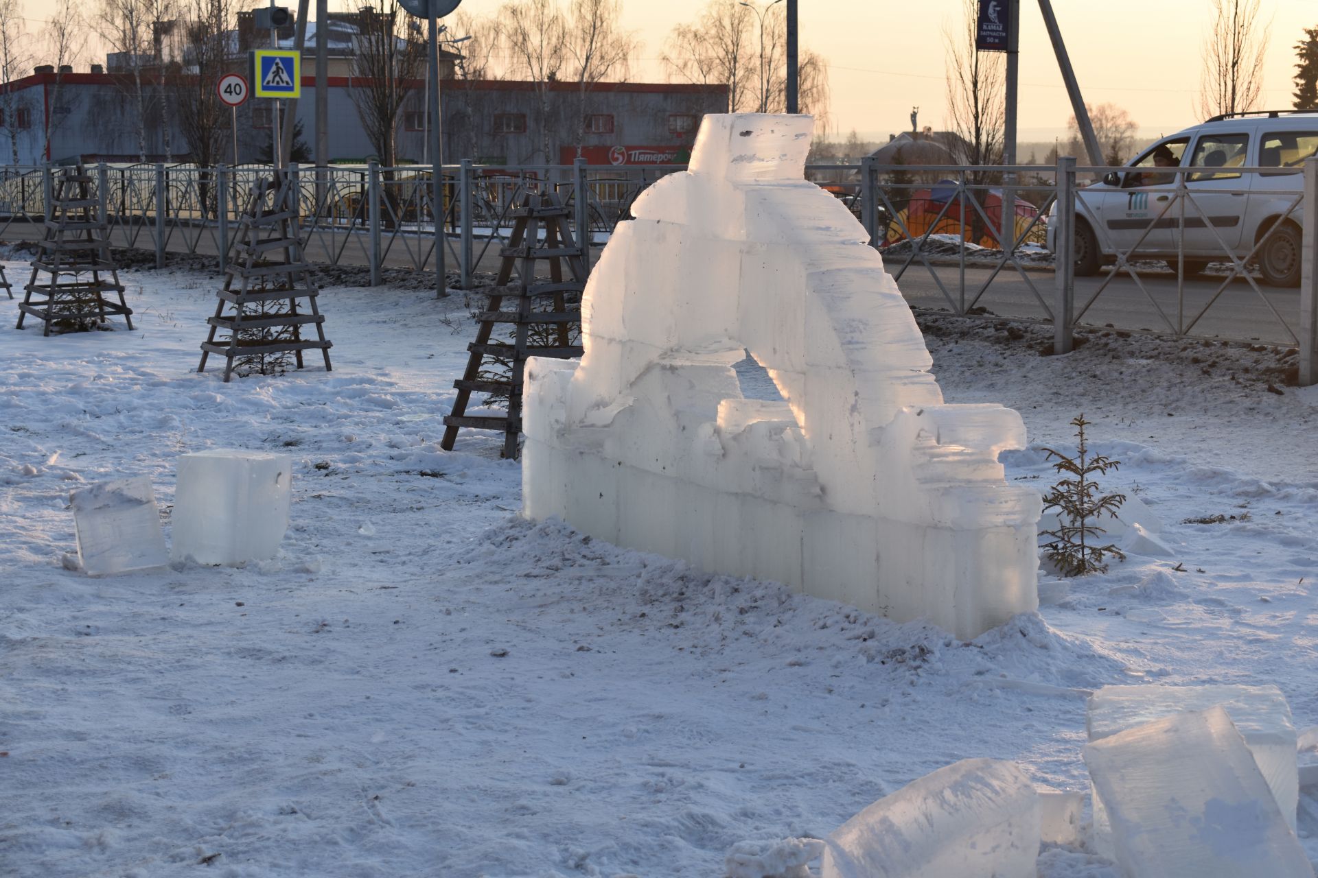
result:
[[[1077,190],[1075,274],[1097,274],[1118,251],[1166,259],[1174,270],[1184,246],[1185,274],[1197,275],[1209,262],[1226,261],[1226,249],[1243,259],[1280,220],[1281,228],[1251,262],[1275,287],[1300,286],[1304,204],[1290,208],[1304,190],[1301,166],[1315,151],[1318,112],[1215,116],[1160,140],[1127,166],[1140,170],[1112,171],[1102,183]],[[1205,168],[1185,175],[1193,204],[1172,203],[1164,213],[1177,180],[1157,172],[1159,157],[1164,166],[1170,157],[1174,166]],[[1278,170],[1231,170],[1238,167]],[[1054,236],[1049,213],[1048,249],[1056,253]]]

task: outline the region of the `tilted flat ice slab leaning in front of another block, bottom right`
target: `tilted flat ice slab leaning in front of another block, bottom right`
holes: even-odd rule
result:
[[[1224,708],[1085,746],[1126,878],[1313,878],[1300,840]]]

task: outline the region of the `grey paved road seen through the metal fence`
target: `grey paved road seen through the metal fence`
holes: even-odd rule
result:
[[[0,232],[8,241],[33,241],[41,237],[41,228],[36,224],[12,222]],[[115,246],[136,246],[138,249],[153,250],[154,242],[149,229],[134,230],[115,228],[111,234]],[[477,238],[474,251],[477,257],[476,271],[496,272],[500,265],[498,242],[489,246],[486,240]],[[416,267],[428,265],[427,253],[430,240],[427,236],[397,234],[390,236],[386,230],[382,246],[385,257],[382,265],[393,269]],[[457,259],[453,253],[457,241],[451,241],[448,267],[456,270]],[[200,255],[215,255],[217,258],[216,234],[214,229],[179,226],[169,230],[166,250],[170,253],[196,253]],[[484,250],[484,253],[482,253]],[[333,254],[331,257],[331,254]],[[307,255],[312,262],[330,262],[335,259],[343,265],[368,265],[369,237],[365,230],[337,232],[335,234],[316,236],[307,247]],[[598,249],[596,249],[598,257]],[[894,258],[888,261],[888,270],[898,271],[904,259]],[[956,265],[936,265],[933,272],[937,274],[948,294],[957,300],[961,297],[960,283],[961,270]],[[990,278],[992,279],[991,283]],[[1027,279],[1028,278],[1028,282]],[[1141,274],[1140,279],[1148,290],[1148,295],[1140,290],[1139,284],[1123,275],[1112,279],[1099,294],[1094,304],[1082,315],[1082,323],[1087,325],[1112,324],[1118,329],[1147,329],[1152,332],[1169,332],[1168,324],[1159,316],[1157,308],[1149,300],[1157,303],[1172,325],[1188,326],[1195,315],[1209,303],[1217,292],[1223,278],[1188,280],[1185,283],[1185,299],[1178,305],[1176,275],[1166,271],[1149,271]],[[1045,270],[1029,270],[1025,276],[1008,266],[994,276],[991,269],[970,267],[965,270],[966,291],[963,301],[969,305],[975,300],[985,283],[987,290],[978,299],[977,304],[987,308],[994,315],[1004,317],[1046,317],[1048,312],[1039,303],[1031,283],[1039,295],[1053,307],[1053,274]],[[1079,309],[1102,287],[1103,276],[1078,278],[1075,280],[1077,304]],[[919,261],[913,262],[899,276],[903,295],[913,307],[944,308],[948,309],[948,300],[938,288],[931,270]],[[1300,320],[1300,295],[1296,290],[1276,290],[1259,287],[1272,307],[1281,315],[1292,333]],[[1182,312],[1178,316],[1178,311]],[[1271,344],[1294,344],[1293,336],[1288,334],[1282,325],[1269,311],[1268,305],[1259,297],[1253,287],[1244,279],[1235,279],[1222,292],[1207,313],[1190,328],[1197,336],[1220,336],[1235,340],[1256,340]]]

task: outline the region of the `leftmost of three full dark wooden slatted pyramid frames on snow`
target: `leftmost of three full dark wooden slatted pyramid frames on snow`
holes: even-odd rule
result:
[[[45,236],[37,242],[32,278],[18,304],[17,329],[22,329],[28,315],[45,324],[42,336],[50,334],[51,325],[86,328],[91,323],[104,324],[112,315],[133,328],[133,309],[124,300],[119,266],[109,255],[105,217],[99,209],[100,199],[92,196],[91,183],[92,176],[80,165],[65,168],[55,180],[43,221]],[[50,279],[37,283],[42,272]],[[61,276],[70,279],[61,280]],[[8,280],[4,288],[9,291]],[[116,294],[119,301],[107,299],[105,294]]]

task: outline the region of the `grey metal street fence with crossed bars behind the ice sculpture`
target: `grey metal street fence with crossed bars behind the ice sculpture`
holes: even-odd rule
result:
[[[1313,383],[1318,247],[1310,238],[1318,224],[1305,226],[1301,217],[1318,191],[1315,162],[1302,170],[1159,168],[1157,179],[1136,179],[1135,187],[1127,186],[1131,168],[1077,167],[1070,158],[1015,167],[863,161],[811,165],[807,178],[857,216],[915,308],[1049,324],[1058,351],[1070,350],[1077,330],[1090,329],[1293,346],[1302,382]],[[116,246],[154,250],[158,265],[169,253],[210,255],[221,269],[245,194],[269,174],[266,166],[92,167]],[[290,172],[310,261],[368,267],[373,284],[386,269],[434,270],[438,215],[447,232],[445,266],[468,288],[477,272],[497,269],[511,211],[529,194],[554,192],[572,208],[573,230],[598,249],[650,184],[684,168],[464,161],[443,167],[439,209],[431,166],[293,166]],[[0,167],[0,237],[41,236],[54,172]],[[1110,186],[1089,188],[1104,176]],[[1115,201],[1103,204],[1099,190]],[[1126,208],[1141,209],[1122,209],[1123,199]],[[1259,222],[1249,205],[1268,199],[1282,209]],[[1238,219],[1228,224],[1224,213]],[[1246,238],[1246,226],[1259,233],[1251,228]],[[1298,290],[1261,283],[1278,236],[1302,263]],[[1075,247],[1095,246],[1099,237],[1106,246],[1097,271],[1075,276],[1077,259],[1083,274],[1095,269],[1085,265],[1094,254]]]

